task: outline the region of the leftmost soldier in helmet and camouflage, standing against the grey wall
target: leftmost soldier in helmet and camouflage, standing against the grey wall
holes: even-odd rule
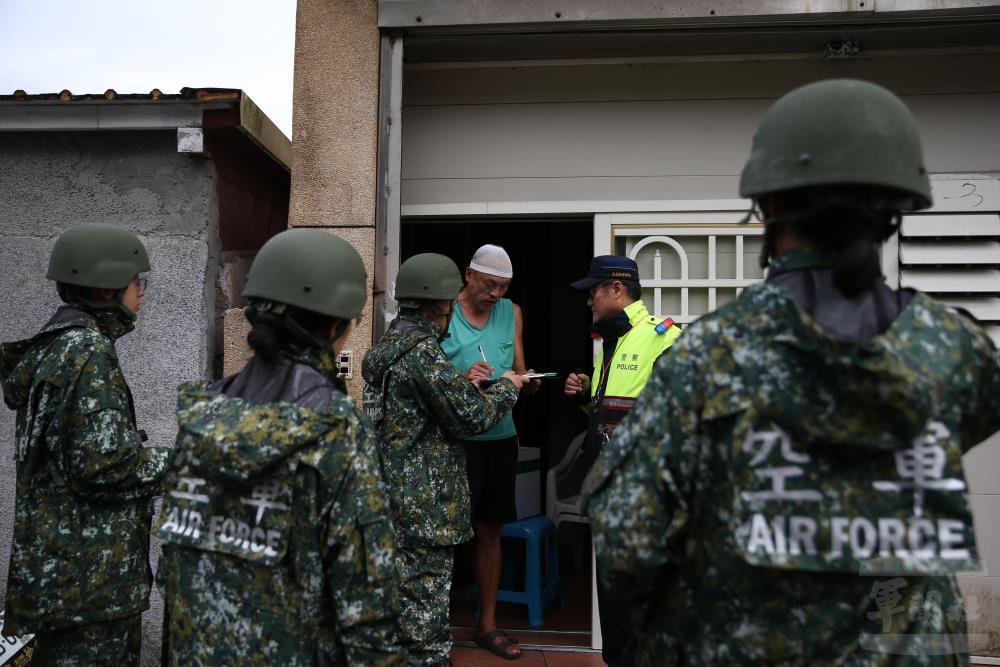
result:
[[[4,401],[17,410],[4,632],[35,633],[37,664],[139,661],[152,496],[169,450],[142,446],[115,341],[135,326],[148,270],[131,232],[71,227],[47,275],[66,305],[0,347]]]

